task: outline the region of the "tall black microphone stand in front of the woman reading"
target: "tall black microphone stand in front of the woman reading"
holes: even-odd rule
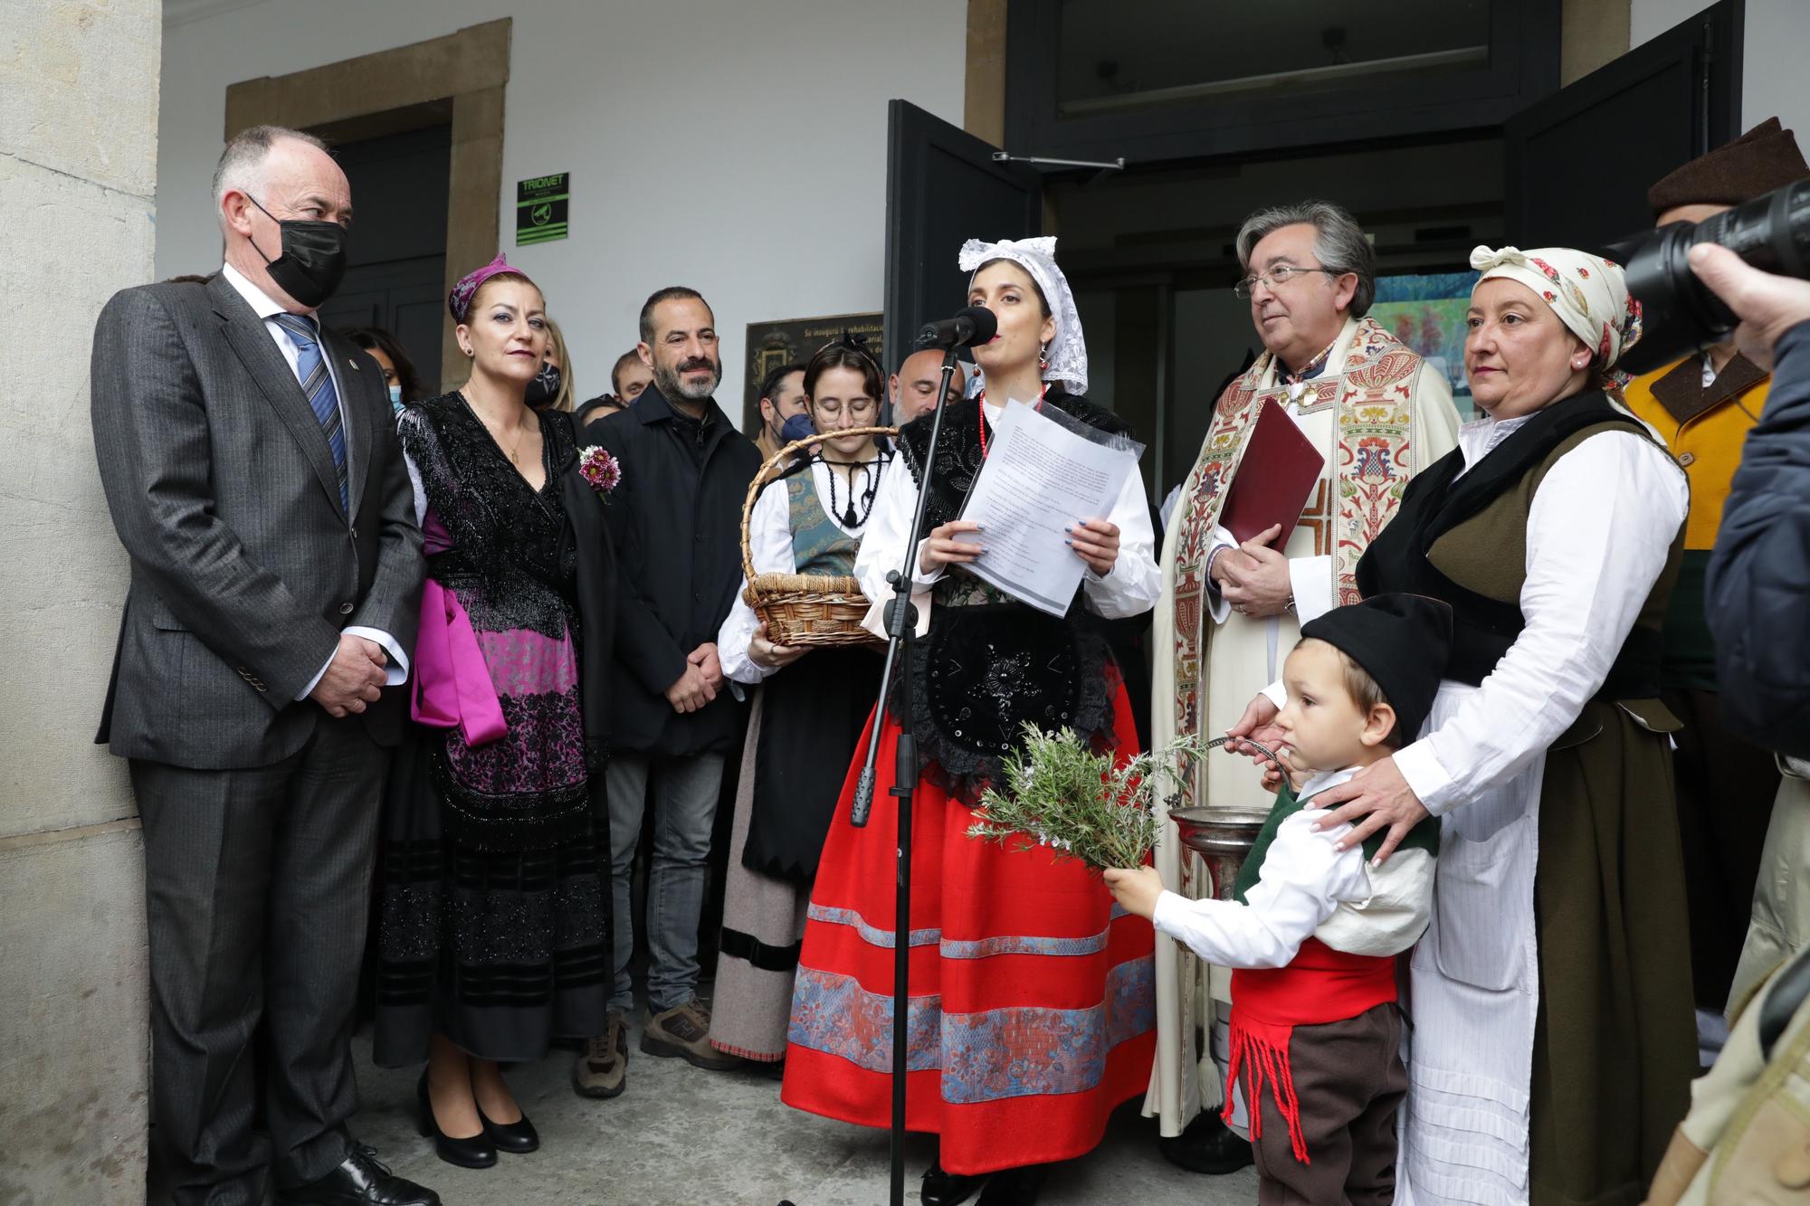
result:
[[[956,348],[943,353],[943,380],[936,391],[936,415],[930,420],[930,445],[918,480],[918,511],[912,514],[910,538],[905,541],[905,563],[887,574],[892,583],[892,601],[887,603],[887,665],[880,672],[880,699],[874,704],[874,726],[867,735],[867,761],[854,782],[854,808],[849,820],[856,828],[867,824],[874,804],[874,762],[880,757],[880,732],[885,726],[887,692],[894,675],[903,679],[907,704],[898,715],[898,761],[892,768],[891,793],[898,800],[898,882],[892,916],[892,1206],[905,1202],[905,1068],[910,981],[910,809],[918,791],[918,739],[910,706],[910,648],[918,632],[918,608],[910,603],[910,583],[918,570],[918,532],[930,502],[930,478],[936,473],[936,445],[943,435],[943,413],[948,409],[948,382],[956,373]],[[986,422],[985,418],[981,422]]]

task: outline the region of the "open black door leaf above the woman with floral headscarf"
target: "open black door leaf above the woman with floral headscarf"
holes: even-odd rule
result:
[[[1607,248],[1653,228],[1647,188],[1739,134],[1741,0],[1721,0],[1502,129],[1515,246]]]

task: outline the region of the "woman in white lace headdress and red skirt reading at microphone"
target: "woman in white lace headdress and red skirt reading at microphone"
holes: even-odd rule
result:
[[[1070,726],[1099,748],[1137,751],[1131,708],[1099,619],[1137,616],[1160,592],[1149,505],[1137,474],[1106,516],[1073,516],[1086,563],[1062,617],[1017,603],[963,567],[979,556],[957,532],[963,498],[1006,406],[1062,411],[1124,433],[1081,397],[1088,351],[1055,239],[970,241],[968,304],[999,321],[976,349],[981,389],[945,406],[923,531],[910,531],[934,413],[900,431],[907,473],[880,482],[854,574],[871,599],[916,549],[929,636],[880,724],[878,782],[865,828],[849,822],[851,768],[818,860],[793,996],[787,1105],[885,1126],[891,1115],[898,721],[912,708],[923,766],[912,813],[910,1054],[907,1126],[939,1135],[927,1206],[1034,1202],[1044,1166],[1090,1152],[1119,1103],[1144,1092],[1155,1052],[1153,933],[1115,914],[1097,875],[1046,847],[967,837],[970,808],[1021,724]],[[985,534],[983,534],[985,547]],[[862,737],[858,757],[865,755]],[[1008,1170],[1008,1172],[1003,1172]]]

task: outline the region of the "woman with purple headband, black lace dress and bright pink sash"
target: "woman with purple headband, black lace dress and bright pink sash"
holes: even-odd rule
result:
[[[451,297],[471,378],[400,416],[425,536],[413,741],[382,858],[376,1061],[425,1061],[420,1126],[440,1159],[532,1152],[501,1063],[605,1027],[610,860],[599,824],[606,657],[599,491],[567,415],[536,415],[541,292],[496,263]]]

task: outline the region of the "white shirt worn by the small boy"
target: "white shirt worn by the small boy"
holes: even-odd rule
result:
[[[1307,800],[1356,773],[1319,771],[1300,795]],[[1329,815],[1303,808],[1276,828],[1247,904],[1166,891],[1157,898],[1157,929],[1220,967],[1287,967],[1309,938],[1348,954],[1401,954],[1432,916],[1432,855],[1410,847],[1372,867],[1361,846],[1334,849],[1350,826],[1312,829]]]

